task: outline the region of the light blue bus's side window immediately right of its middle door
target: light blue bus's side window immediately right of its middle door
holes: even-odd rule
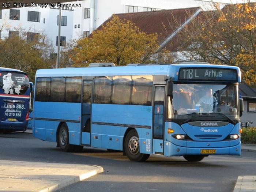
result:
[[[94,103],[108,104],[111,98],[111,77],[96,77],[94,84]]]

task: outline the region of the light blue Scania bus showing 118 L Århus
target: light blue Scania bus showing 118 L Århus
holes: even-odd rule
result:
[[[240,82],[238,67],[207,63],[39,69],[33,135],[62,151],[98,147],[132,161],[240,155]]]

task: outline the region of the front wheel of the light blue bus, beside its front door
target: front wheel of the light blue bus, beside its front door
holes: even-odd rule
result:
[[[128,132],[124,141],[124,151],[126,156],[131,161],[142,162],[146,161],[150,154],[140,153],[139,136],[135,129]]]

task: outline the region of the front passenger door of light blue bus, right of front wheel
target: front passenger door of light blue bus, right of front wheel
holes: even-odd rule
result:
[[[153,151],[155,154],[163,154],[163,117],[165,114],[165,86],[154,86],[154,102],[153,102]]]

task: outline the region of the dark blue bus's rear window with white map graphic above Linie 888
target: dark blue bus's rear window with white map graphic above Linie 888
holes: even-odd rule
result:
[[[11,95],[24,95],[29,89],[29,78],[17,72],[0,73],[0,92]]]

